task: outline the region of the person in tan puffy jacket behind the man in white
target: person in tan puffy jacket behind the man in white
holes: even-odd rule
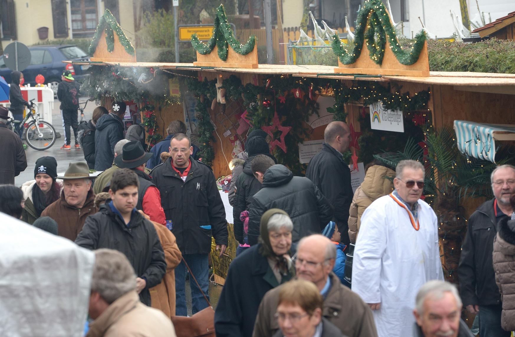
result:
[[[361,216],[370,204],[380,197],[393,191],[393,183],[385,176],[395,176],[395,171],[379,160],[374,159],[365,168],[365,180],[354,192],[351,208],[349,209],[349,237],[352,243],[356,243]]]

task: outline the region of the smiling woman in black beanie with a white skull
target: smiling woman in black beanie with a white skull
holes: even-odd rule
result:
[[[25,208],[22,220],[32,224],[41,216],[46,206],[58,200],[62,184],[56,181],[57,161],[54,157],[41,157],[36,161],[34,168],[35,180],[22,185]]]

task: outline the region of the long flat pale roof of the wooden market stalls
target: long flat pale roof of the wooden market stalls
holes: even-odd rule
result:
[[[515,74],[473,73],[473,72],[430,72],[428,77],[381,76],[359,74],[336,74],[333,66],[327,65],[279,65],[260,64],[258,68],[219,68],[200,67],[193,63],[157,62],[72,62],[73,64],[119,65],[121,67],[161,68],[167,70],[191,70],[241,74],[291,75],[296,77],[316,77],[341,80],[402,81],[428,85],[454,85],[462,90],[496,92],[493,87],[504,87],[502,93],[515,94]],[[499,92],[499,91],[497,91]]]

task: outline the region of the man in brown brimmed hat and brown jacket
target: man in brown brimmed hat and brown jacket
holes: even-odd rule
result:
[[[88,216],[95,214],[95,194],[91,189],[90,169],[85,162],[70,163],[63,176],[61,198],[41,212],[57,222],[58,235],[75,241]]]

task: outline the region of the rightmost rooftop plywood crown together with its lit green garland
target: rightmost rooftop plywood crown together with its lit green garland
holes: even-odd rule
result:
[[[335,73],[429,76],[425,31],[415,36],[410,47],[403,48],[381,0],[365,1],[357,14],[354,34],[349,45],[337,34],[333,36],[333,52],[338,57]]]

